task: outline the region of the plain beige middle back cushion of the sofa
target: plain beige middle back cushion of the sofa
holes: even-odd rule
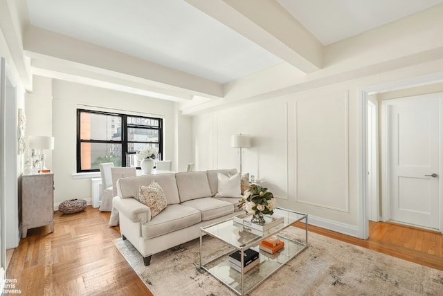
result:
[[[180,201],[210,197],[210,187],[206,172],[181,172],[175,174],[179,189]]]

